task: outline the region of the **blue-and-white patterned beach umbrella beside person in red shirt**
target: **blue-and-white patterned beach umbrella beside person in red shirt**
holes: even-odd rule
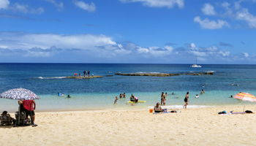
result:
[[[5,91],[0,94],[0,98],[13,99],[13,100],[40,99],[35,93],[33,93],[32,91],[29,91],[28,89],[24,89],[24,88],[15,88],[15,89],[11,89],[9,91]],[[19,112],[20,112],[20,110],[19,110]],[[30,108],[30,118],[31,118],[31,123],[34,124],[34,121],[31,116],[31,108]],[[20,118],[18,118],[18,119],[20,120]],[[20,123],[20,121],[18,123]]]

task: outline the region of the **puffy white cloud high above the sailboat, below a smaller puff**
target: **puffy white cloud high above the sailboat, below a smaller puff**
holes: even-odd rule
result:
[[[227,23],[225,20],[217,20],[217,21],[218,22],[214,20],[210,21],[208,20],[208,18],[206,18],[205,20],[201,20],[199,16],[194,18],[194,22],[200,23],[200,26],[206,29],[219,29],[219,28],[222,28],[223,26],[229,26],[229,23]]]

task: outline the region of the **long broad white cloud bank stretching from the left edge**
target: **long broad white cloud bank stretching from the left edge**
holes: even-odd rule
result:
[[[12,50],[29,50],[33,47],[47,49],[52,46],[62,49],[80,48],[82,50],[94,50],[96,46],[116,45],[116,42],[113,42],[111,37],[94,34],[64,35],[0,32],[0,38],[2,39],[1,45],[7,46]]]

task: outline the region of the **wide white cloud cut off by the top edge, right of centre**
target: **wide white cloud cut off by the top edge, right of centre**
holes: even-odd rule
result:
[[[175,4],[178,5],[178,7],[182,8],[184,7],[184,0],[120,0],[124,3],[126,2],[142,2],[144,6],[148,7],[167,7],[167,8],[173,8]]]

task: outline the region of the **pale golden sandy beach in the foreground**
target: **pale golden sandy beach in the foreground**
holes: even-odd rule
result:
[[[37,127],[1,126],[0,145],[255,145],[256,114],[218,115],[243,108],[36,112]]]

